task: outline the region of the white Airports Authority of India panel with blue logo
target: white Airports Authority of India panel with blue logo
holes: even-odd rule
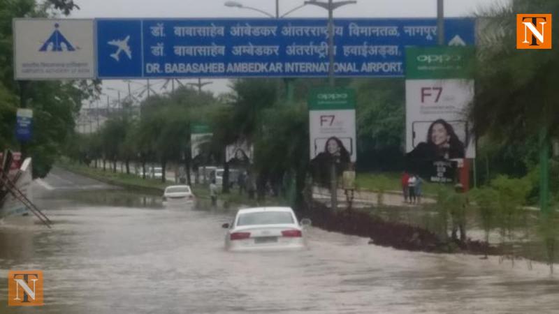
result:
[[[96,76],[94,20],[14,19],[15,80]]]

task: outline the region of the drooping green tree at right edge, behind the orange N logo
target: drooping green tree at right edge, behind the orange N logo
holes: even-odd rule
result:
[[[557,50],[516,50],[516,13],[559,13],[559,3],[517,0],[484,13],[475,66],[476,96],[470,107],[477,134],[525,144],[546,128],[559,131]],[[559,30],[553,26],[553,40]]]

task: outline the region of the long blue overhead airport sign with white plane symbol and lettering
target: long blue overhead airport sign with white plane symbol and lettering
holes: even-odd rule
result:
[[[437,44],[435,19],[335,20],[335,73],[401,77],[405,46]],[[473,19],[445,20],[451,45],[474,45]],[[322,19],[96,20],[100,78],[325,77]]]

